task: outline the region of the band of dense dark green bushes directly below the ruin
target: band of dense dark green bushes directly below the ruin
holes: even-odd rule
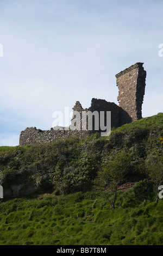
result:
[[[115,129],[110,137],[95,134],[85,140],[0,148],[0,184],[34,181],[40,187],[53,185],[56,193],[91,190],[97,173],[114,166],[122,151],[130,156],[127,179],[148,178],[147,160],[152,152],[156,157],[163,153],[162,120],[162,113],[141,119]]]

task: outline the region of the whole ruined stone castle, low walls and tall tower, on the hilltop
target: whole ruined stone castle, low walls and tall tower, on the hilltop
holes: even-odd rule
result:
[[[131,121],[142,118],[142,103],[145,95],[146,86],[146,71],[143,69],[143,63],[136,63],[116,75],[119,95],[117,100],[119,106],[114,102],[107,102],[101,99],[92,99],[91,106],[83,109],[79,101],[73,107],[73,111],[80,113],[80,120],[82,120],[83,111],[111,111],[111,127],[120,127],[123,124],[131,123]],[[73,119],[72,119],[73,120]],[[86,138],[94,132],[101,132],[100,128],[95,130],[93,126],[92,131],[89,130],[68,130],[63,127],[62,130],[42,131],[36,127],[27,127],[21,132],[20,146],[36,145],[40,143],[49,143],[58,141],[59,139],[66,139],[73,136],[79,138]]]

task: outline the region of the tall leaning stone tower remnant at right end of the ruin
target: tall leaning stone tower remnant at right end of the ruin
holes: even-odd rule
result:
[[[143,63],[136,63],[116,75],[119,95],[117,100],[122,108],[121,125],[142,118],[142,102],[145,95],[146,71]]]

